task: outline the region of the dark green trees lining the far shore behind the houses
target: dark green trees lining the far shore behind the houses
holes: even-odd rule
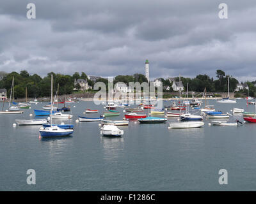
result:
[[[51,75],[53,76],[53,91],[57,91],[59,84],[59,94],[72,94],[75,88],[74,80],[82,78],[87,80],[88,85],[93,87],[94,83],[88,78],[88,76],[82,72],[81,75],[78,72],[75,72],[73,75],[63,75],[61,73],[48,73],[46,77],[40,77],[37,74],[30,75],[28,71],[22,70],[20,73],[13,71],[12,73],[0,73],[0,88],[7,89],[7,94],[10,96],[10,89],[12,87],[12,78],[14,77],[14,95],[15,98],[24,98],[26,93],[26,87],[28,89],[29,98],[41,98],[51,96]],[[181,77],[182,84],[184,85],[184,91],[187,91],[187,84],[189,84],[188,91],[202,92],[205,87],[207,92],[227,92],[227,78],[230,82],[230,92],[234,92],[238,80],[230,75],[226,75],[221,69],[216,70],[216,80],[208,75],[197,75],[195,78],[185,78]],[[167,92],[173,92],[172,90],[172,81],[169,78],[159,78],[163,83],[163,87],[170,87],[170,90]],[[179,82],[179,77],[175,77],[175,81]],[[96,82],[103,82],[108,88],[108,79],[99,78]],[[114,78],[114,84],[117,82],[124,82],[129,85],[129,82],[147,82],[145,75],[136,73],[134,75],[118,75]],[[256,81],[255,82],[246,82],[249,87],[248,90],[239,91],[243,94],[249,94],[250,96],[256,96]],[[79,87],[76,87],[79,88]],[[165,89],[163,89],[166,91]]]

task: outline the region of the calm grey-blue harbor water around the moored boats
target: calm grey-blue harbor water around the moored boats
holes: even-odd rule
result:
[[[244,99],[236,104],[209,103],[224,113],[235,107],[254,112]],[[65,120],[74,124],[70,137],[39,138],[40,126],[12,127],[15,119],[33,118],[29,113],[45,104],[32,104],[20,115],[0,115],[1,191],[256,190],[256,124],[208,126],[204,119],[204,128],[168,129],[168,123],[131,122],[120,128],[122,137],[108,138],[100,135],[98,122],[75,122],[86,108],[104,110],[103,105],[80,101],[70,104],[74,117]],[[123,112],[108,119],[122,117]],[[218,183],[223,168],[228,185]],[[36,171],[36,185],[27,184],[28,169]]]

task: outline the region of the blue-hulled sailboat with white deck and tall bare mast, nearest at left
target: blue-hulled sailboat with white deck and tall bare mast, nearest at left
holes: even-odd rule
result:
[[[55,98],[54,98],[55,101]],[[52,101],[52,76],[51,76],[51,104],[53,106]],[[51,109],[52,113],[52,109]],[[59,126],[52,126],[52,118],[51,118],[51,126],[49,127],[42,127],[39,129],[40,135],[42,137],[51,137],[51,136],[68,136],[74,132],[74,129],[64,129],[60,128]]]

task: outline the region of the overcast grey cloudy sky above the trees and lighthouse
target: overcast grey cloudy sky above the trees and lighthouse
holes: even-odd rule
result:
[[[222,69],[256,80],[255,22],[255,0],[1,0],[0,71],[109,77],[145,74],[148,59],[152,79]]]

